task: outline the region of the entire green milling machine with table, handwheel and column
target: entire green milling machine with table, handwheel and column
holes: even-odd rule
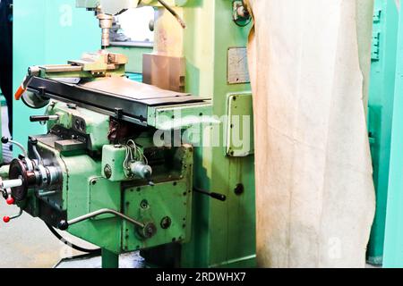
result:
[[[21,210],[4,222],[39,217],[99,246],[103,267],[138,250],[156,266],[254,266],[250,15],[243,1],[138,2],[77,0],[103,48],[29,68],[15,97],[47,131],[28,146],[2,139],[21,153],[1,169],[3,196]],[[156,11],[145,83],[107,49],[112,15],[138,5]]]

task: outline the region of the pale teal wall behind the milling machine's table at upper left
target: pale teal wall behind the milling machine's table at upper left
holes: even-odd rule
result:
[[[75,0],[14,0],[13,14],[14,90],[30,65],[66,63],[99,49],[98,21],[93,13],[75,8]],[[13,110],[14,139],[25,144],[28,135],[45,131],[29,122],[30,115],[43,110],[32,110],[21,101],[14,101]]]

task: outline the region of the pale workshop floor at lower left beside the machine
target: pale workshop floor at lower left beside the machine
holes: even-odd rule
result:
[[[5,107],[2,107],[1,114],[2,130],[8,130],[7,109]],[[8,136],[7,133],[8,131],[4,132],[3,136]],[[8,154],[4,155],[11,155],[9,151],[7,152]],[[17,207],[7,206],[4,199],[0,199],[0,219],[4,215],[11,216],[17,213]],[[66,234],[65,237],[80,246],[93,248],[90,244],[78,241]],[[10,223],[3,223],[0,220],[0,240],[2,241],[0,268],[53,267],[64,257],[80,254],[57,240],[47,229],[45,223],[25,213]]]

